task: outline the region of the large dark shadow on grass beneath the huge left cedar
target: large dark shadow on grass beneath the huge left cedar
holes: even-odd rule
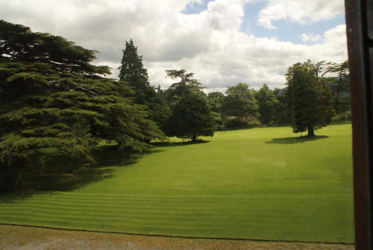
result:
[[[21,176],[20,190],[0,194],[1,203],[15,203],[30,198],[34,194],[46,194],[53,191],[70,192],[94,184],[114,176],[114,167],[128,167],[138,162],[145,154],[157,153],[161,150],[146,150],[143,153],[130,153],[118,151],[115,145],[105,145],[99,150],[93,151],[93,157],[97,160],[93,164],[79,166],[76,174],[63,174],[43,171],[40,167],[30,166],[28,171]],[[55,162],[59,158],[55,156]],[[56,163],[57,164],[57,163]],[[62,164],[63,162],[59,162]]]

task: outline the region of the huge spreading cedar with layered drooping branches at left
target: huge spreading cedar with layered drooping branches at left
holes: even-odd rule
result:
[[[63,37],[0,20],[0,189],[19,183],[30,151],[55,148],[93,162],[99,140],[144,150],[162,132],[134,104],[124,82],[103,78],[108,66],[90,62],[98,51]]]

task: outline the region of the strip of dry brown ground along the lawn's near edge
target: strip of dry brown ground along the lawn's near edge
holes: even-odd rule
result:
[[[0,225],[0,249],[352,250],[355,247],[351,244],[178,238]]]

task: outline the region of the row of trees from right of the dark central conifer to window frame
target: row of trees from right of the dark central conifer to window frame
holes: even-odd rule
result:
[[[264,84],[254,90],[239,83],[228,87],[225,95],[212,92],[208,97],[212,110],[222,117],[233,116],[241,123],[252,118],[262,124],[292,124],[294,132],[308,130],[313,135],[314,129],[329,124],[336,113],[350,109],[348,69],[348,61],[307,60],[288,68],[283,89],[271,90]],[[326,77],[327,73],[335,76]]]

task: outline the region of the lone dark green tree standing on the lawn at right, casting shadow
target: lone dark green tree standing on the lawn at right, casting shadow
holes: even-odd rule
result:
[[[314,130],[325,127],[335,115],[331,106],[332,91],[324,78],[317,77],[310,60],[289,67],[285,77],[293,132],[308,130],[312,136]]]

